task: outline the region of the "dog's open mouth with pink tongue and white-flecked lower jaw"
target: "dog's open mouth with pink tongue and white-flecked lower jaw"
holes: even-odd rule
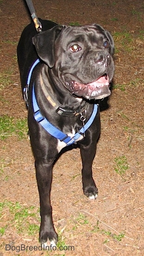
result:
[[[107,74],[100,76],[96,81],[81,84],[76,81],[70,81],[67,86],[72,94],[86,99],[102,99],[111,94],[109,89],[109,77]]]

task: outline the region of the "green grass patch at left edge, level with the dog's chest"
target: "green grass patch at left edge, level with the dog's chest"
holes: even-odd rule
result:
[[[0,139],[17,135],[20,140],[26,137],[28,131],[26,118],[13,118],[8,115],[0,117]]]

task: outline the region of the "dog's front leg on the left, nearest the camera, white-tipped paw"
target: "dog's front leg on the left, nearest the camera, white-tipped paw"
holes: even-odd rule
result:
[[[56,246],[57,243],[57,234],[53,225],[52,207],[50,205],[53,163],[37,163],[36,161],[35,166],[40,197],[41,215],[39,240],[43,246],[43,249],[46,249],[46,246]]]

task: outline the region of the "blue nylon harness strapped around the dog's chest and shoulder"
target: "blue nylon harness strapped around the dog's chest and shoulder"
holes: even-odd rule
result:
[[[24,88],[24,98],[26,98],[26,102],[28,102],[28,95],[27,92],[29,90],[29,84],[31,80],[31,74],[34,69],[34,67],[39,63],[39,59],[34,62],[34,64],[31,67],[30,73],[28,75],[27,79],[27,86]],[[27,95],[25,97],[25,94]],[[94,109],[91,117],[87,121],[87,123],[73,136],[70,137],[67,134],[64,134],[61,130],[56,128],[54,125],[52,125],[42,114],[40,111],[40,108],[38,107],[38,102],[36,99],[35,91],[34,91],[34,84],[32,88],[32,106],[33,106],[33,112],[34,112],[34,118],[35,120],[42,125],[42,127],[52,136],[54,136],[56,139],[59,139],[60,141],[63,141],[67,144],[67,146],[73,144],[75,141],[77,141],[81,135],[85,134],[85,131],[91,126],[92,122],[94,121],[94,118],[97,114],[98,105],[94,104]]]

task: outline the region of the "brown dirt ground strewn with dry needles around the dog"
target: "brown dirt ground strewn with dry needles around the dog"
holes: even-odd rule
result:
[[[12,71],[11,83],[0,91],[0,115],[14,118],[27,116],[16,60],[20,34],[31,20],[24,2],[0,0],[0,73]],[[0,202],[11,202],[14,206],[19,202],[33,212],[33,215],[28,212],[27,219],[22,216],[20,224],[6,204],[0,215],[0,228],[5,228],[0,235],[0,256],[142,256],[144,1],[33,0],[33,4],[42,19],[66,25],[98,23],[112,33],[116,46],[113,90],[109,108],[101,112],[101,136],[93,164],[98,198],[90,201],[83,195],[79,149],[64,153],[53,169],[51,203],[60,245],[66,246],[63,250],[16,251],[13,247],[6,251],[6,244],[40,245],[38,229],[30,234],[25,228],[27,222],[36,227],[40,224],[39,196],[28,139],[10,136],[0,141]]]

